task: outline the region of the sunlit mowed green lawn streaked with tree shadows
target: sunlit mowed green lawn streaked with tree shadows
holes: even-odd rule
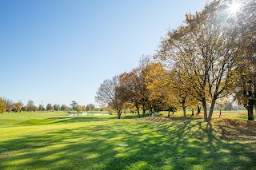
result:
[[[135,117],[0,114],[0,169],[256,168],[254,129]]]

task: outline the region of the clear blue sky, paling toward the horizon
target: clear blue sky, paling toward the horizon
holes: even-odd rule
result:
[[[94,103],[206,0],[0,0],[0,97]]]

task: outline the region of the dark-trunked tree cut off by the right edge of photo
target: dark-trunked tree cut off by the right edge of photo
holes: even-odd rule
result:
[[[240,9],[235,14],[242,43],[238,45],[240,59],[235,69],[236,98],[248,112],[248,120],[254,121],[254,105],[256,105],[256,2],[240,1]]]

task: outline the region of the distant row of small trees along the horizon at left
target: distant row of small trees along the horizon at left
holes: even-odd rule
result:
[[[13,101],[10,101],[10,99],[1,98],[0,97],[0,112],[36,112],[36,111],[70,111],[70,110],[76,110],[78,112],[80,111],[92,111],[95,110],[96,107],[94,104],[88,104],[88,105],[78,105],[76,101],[72,101],[70,104],[70,107],[66,105],[46,105],[46,108],[44,105],[39,105],[38,107],[34,105],[34,101],[30,100],[27,101],[27,105],[24,105],[22,101],[18,101],[17,103],[14,103]]]

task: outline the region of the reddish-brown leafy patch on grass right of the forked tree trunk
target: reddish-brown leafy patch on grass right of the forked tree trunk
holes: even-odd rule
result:
[[[218,125],[230,125],[237,128],[247,128],[256,130],[256,122],[255,121],[247,121],[247,120],[234,120],[234,119],[218,119],[214,120],[213,123]]]

